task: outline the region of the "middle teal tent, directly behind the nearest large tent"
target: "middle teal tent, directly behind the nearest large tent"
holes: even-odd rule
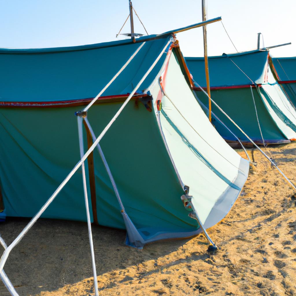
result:
[[[208,98],[197,86],[206,85],[204,58],[185,59],[196,81],[194,90],[197,99],[208,113]],[[271,73],[268,73],[267,50],[223,54],[209,57],[208,61],[212,99],[256,144],[286,143],[296,138],[296,112],[276,81],[272,81]],[[250,143],[213,105],[212,112],[215,115],[213,125],[229,144],[238,144],[229,129],[242,142]]]

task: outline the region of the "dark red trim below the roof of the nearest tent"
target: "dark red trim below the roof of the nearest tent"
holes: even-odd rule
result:
[[[115,96],[101,96],[95,104],[104,102],[121,102],[126,99],[129,94],[120,94]],[[147,94],[135,94],[133,98],[148,96]],[[50,102],[0,102],[0,107],[69,107],[86,105],[94,98],[77,99],[68,101],[50,101]]]

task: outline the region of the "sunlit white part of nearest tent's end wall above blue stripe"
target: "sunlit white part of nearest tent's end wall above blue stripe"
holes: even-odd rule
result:
[[[177,85],[180,87],[176,87]],[[171,57],[168,65],[165,91],[188,123],[172,107],[170,101],[164,97],[162,104],[168,116],[175,122],[176,126],[178,126],[193,146],[198,148],[200,153],[223,176],[230,181],[234,180],[237,176],[241,157],[229,147],[209,122],[191,89],[188,87],[174,56]]]

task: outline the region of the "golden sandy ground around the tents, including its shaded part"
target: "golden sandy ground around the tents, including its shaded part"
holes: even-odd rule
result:
[[[264,151],[296,183],[296,143]],[[248,153],[258,165],[230,213],[208,231],[215,255],[202,235],[137,250],[123,244],[124,231],[94,226],[99,294],[296,295],[295,193],[257,150]],[[8,220],[2,236],[11,242],[27,222]],[[20,295],[93,295],[86,224],[41,219],[4,270]],[[0,295],[9,295],[3,284]]]

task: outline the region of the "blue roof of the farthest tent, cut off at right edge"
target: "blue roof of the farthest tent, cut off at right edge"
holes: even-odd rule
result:
[[[296,80],[296,57],[273,57],[272,63],[281,81]]]

